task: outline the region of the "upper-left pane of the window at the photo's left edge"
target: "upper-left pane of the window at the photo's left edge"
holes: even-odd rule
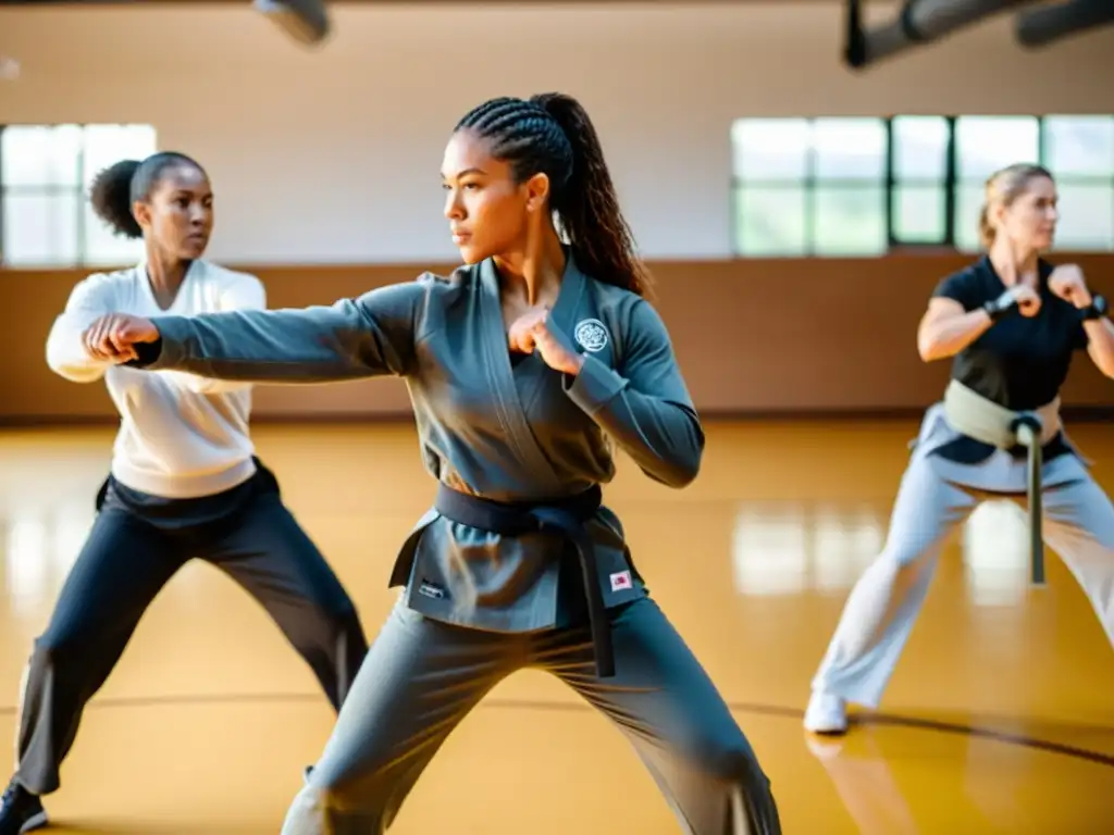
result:
[[[6,186],[76,186],[81,128],[12,125],[0,132],[0,183]]]

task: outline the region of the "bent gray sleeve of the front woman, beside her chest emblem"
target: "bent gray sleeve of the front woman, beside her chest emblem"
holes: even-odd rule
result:
[[[565,389],[647,475],[668,487],[685,487],[700,472],[704,431],[665,324],[639,301],[625,337],[618,371],[586,354],[580,372],[566,375]]]

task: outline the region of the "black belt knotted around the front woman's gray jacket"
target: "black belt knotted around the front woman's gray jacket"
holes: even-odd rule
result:
[[[576,547],[588,599],[592,644],[596,655],[596,674],[600,678],[615,675],[615,652],[610,623],[599,590],[596,552],[588,536],[587,522],[599,510],[603,491],[599,485],[568,499],[541,502],[506,503],[481,499],[439,484],[433,507],[446,519],[501,537],[524,533],[559,533]]]

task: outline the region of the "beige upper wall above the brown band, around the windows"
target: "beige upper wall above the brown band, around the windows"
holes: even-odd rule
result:
[[[834,0],[333,7],[320,51],[246,0],[0,9],[0,122],[155,125],[213,175],[218,261],[393,264],[456,256],[441,153],[488,96],[580,97],[653,259],[731,256],[739,117],[1114,111],[1114,29],[1034,52],[1008,14],[857,73]]]

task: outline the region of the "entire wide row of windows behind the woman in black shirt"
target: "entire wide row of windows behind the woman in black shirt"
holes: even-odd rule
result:
[[[731,137],[743,256],[976,252],[986,179],[1018,161],[1056,176],[1057,248],[1114,250],[1114,115],[739,119]]]

